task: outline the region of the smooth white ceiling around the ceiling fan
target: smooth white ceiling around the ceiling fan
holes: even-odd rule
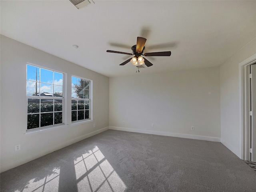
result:
[[[140,73],[219,66],[256,37],[256,1],[94,2],[1,0],[1,34],[109,77],[136,74],[119,66],[129,56],[106,50],[132,53],[137,36],[144,53],[172,52]]]

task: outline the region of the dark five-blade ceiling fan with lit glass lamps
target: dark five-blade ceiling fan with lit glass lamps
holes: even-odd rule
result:
[[[120,51],[112,51],[112,50],[107,50],[107,52],[110,53],[119,53],[119,54],[126,54],[126,55],[134,55],[134,57],[126,60],[125,62],[121,63],[120,65],[125,65],[129,61],[135,65],[135,66],[142,66],[145,64],[147,67],[152,66],[153,64],[150,63],[146,58],[142,56],[170,56],[171,52],[170,51],[163,51],[163,52],[151,52],[151,53],[145,53],[143,54],[143,51],[145,49],[144,45],[146,43],[146,39],[143,37],[137,37],[137,44],[132,46],[132,52],[131,53],[126,53],[126,52],[120,52]]]

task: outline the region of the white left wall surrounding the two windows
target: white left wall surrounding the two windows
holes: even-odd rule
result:
[[[106,76],[72,64],[5,36],[1,36],[1,172],[68,146],[108,129],[109,79]],[[94,122],[64,125],[59,128],[25,134],[26,132],[26,64],[93,80]],[[86,61],[84,61],[86,62]],[[71,86],[68,81],[67,87]],[[71,119],[71,88],[67,90],[67,120]],[[96,123],[96,128],[93,124]],[[21,150],[14,151],[16,144]]]

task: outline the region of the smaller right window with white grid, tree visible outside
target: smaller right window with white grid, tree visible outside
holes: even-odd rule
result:
[[[90,119],[91,80],[72,76],[71,120]]]

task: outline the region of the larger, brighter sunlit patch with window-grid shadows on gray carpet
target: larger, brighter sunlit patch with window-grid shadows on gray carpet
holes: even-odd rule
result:
[[[100,149],[82,154],[74,160],[78,192],[124,192],[126,185]]]

